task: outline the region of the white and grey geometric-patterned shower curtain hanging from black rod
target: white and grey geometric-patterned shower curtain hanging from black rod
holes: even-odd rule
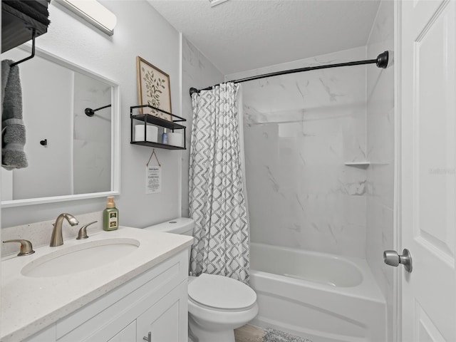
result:
[[[239,85],[192,95],[189,209],[195,220],[190,271],[249,283],[247,195],[242,171]]]

